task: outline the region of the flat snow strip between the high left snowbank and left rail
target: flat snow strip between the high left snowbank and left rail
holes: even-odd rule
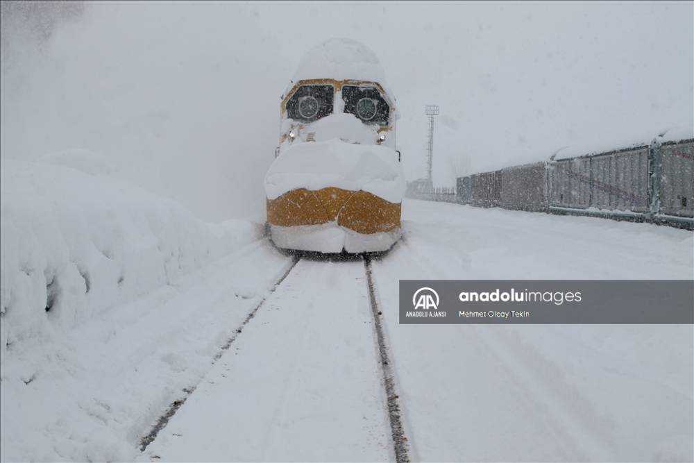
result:
[[[266,241],[240,246],[73,330],[13,343],[2,365],[0,460],[133,461],[285,271]]]

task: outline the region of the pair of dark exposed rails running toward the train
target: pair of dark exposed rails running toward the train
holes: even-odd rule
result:
[[[371,308],[371,315],[373,317],[373,331],[375,334],[375,343],[377,344],[376,350],[378,351],[378,364],[380,366],[380,372],[382,374],[382,380],[380,380],[380,383],[382,384],[382,387],[384,389],[384,396],[387,401],[386,410],[390,426],[391,445],[393,448],[393,455],[395,456],[396,462],[402,463],[410,461],[409,445],[408,439],[405,435],[403,420],[401,418],[402,407],[400,405],[400,398],[396,391],[393,363],[391,362],[389,353],[390,349],[388,346],[387,337],[385,335],[381,320],[383,314],[382,310],[379,307],[378,289],[373,278],[373,271],[371,267],[372,258],[378,256],[379,254],[369,253],[349,256],[334,255],[328,258],[316,253],[296,253],[292,255],[291,263],[287,267],[286,271],[284,271],[278,278],[278,280],[276,280],[269,292],[266,293],[260,299],[260,301],[258,301],[257,304],[253,306],[253,309],[251,309],[251,311],[248,312],[241,325],[232,331],[226,343],[223,344],[223,346],[221,346],[217,354],[214,355],[214,358],[212,359],[212,364],[217,362],[217,360],[219,360],[224,355],[224,353],[229,350],[229,348],[232,346],[232,344],[234,344],[234,342],[237,340],[239,335],[244,330],[244,327],[251,322],[251,320],[255,317],[257,312],[265,305],[269,296],[278,290],[280,285],[282,285],[282,282],[284,282],[287,276],[289,276],[289,274],[291,273],[291,271],[296,268],[298,262],[300,262],[301,260],[325,260],[326,262],[335,262],[340,260],[348,260],[352,262],[362,261],[364,263],[366,294],[368,295],[369,305]],[[184,395],[173,401],[169,405],[167,410],[155,422],[150,432],[144,435],[142,439],[140,439],[140,451],[144,451],[149,446],[149,444],[151,444],[156,439],[159,432],[167,426],[167,423],[169,423],[171,418],[176,414],[180,407],[183,406],[187,398],[195,391],[195,389],[195,385],[183,389]]]

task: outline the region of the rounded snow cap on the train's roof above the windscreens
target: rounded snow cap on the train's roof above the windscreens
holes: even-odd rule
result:
[[[301,58],[292,82],[311,78],[358,79],[385,86],[384,76],[378,57],[369,47],[355,40],[334,38],[310,49]]]

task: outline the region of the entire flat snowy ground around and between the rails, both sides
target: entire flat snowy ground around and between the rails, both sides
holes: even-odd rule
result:
[[[403,211],[405,238],[373,272],[413,460],[692,459],[691,326],[406,326],[397,311],[401,278],[693,278],[691,232],[423,201]],[[257,237],[13,342],[2,460],[392,459],[362,264],[301,260],[269,293],[289,266]]]

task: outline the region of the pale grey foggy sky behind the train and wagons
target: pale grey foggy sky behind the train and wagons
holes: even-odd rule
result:
[[[262,216],[280,94],[330,37],[380,57],[410,179],[428,103],[441,186],[694,124],[691,2],[94,3],[3,50],[1,155],[90,149],[203,217]]]

